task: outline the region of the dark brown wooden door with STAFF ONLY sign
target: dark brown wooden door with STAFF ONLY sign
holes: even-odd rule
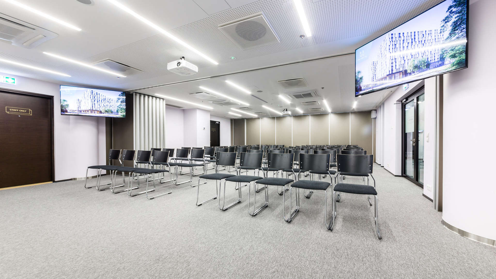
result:
[[[53,181],[53,98],[0,91],[0,188]]]

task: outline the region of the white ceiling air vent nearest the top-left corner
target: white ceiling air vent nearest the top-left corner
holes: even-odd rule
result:
[[[0,13],[0,41],[32,49],[39,44],[59,36],[36,25]]]

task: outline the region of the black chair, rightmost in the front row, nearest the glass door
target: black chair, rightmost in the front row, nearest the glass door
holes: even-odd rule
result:
[[[377,210],[377,191],[375,190],[375,179],[372,176],[372,166],[373,166],[373,155],[346,155],[338,154],[338,174],[341,173],[366,173],[370,175],[374,181],[374,186],[361,185],[361,184],[351,184],[351,183],[338,183],[334,186],[332,191],[332,217],[329,223],[328,229],[332,230],[334,228],[334,223],[336,220],[336,193],[350,193],[358,195],[368,195],[369,204],[370,195],[374,196],[374,219],[375,219],[375,232],[377,237],[381,239],[379,232],[379,220],[378,220],[378,210]]]

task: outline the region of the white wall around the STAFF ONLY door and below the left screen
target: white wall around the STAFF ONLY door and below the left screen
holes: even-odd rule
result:
[[[0,73],[16,78],[17,85],[0,83],[0,88],[54,96],[55,180],[84,177],[86,167],[106,164],[105,118],[67,116],[60,113],[60,85]],[[96,175],[90,170],[88,176]]]

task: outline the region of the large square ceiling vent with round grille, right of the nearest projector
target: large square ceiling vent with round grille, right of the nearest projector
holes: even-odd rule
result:
[[[221,24],[218,28],[242,50],[280,42],[262,12]]]

